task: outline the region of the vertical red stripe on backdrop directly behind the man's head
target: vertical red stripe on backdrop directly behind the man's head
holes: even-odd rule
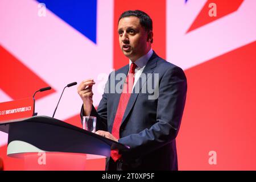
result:
[[[140,0],[140,1],[122,1],[114,2],[114,69],[119,69],[129,63],[129,59],[125,57],[119,47],[117,24],[119,16],[126,10],[142,10],[146,12],[152,19],[154,43],[152,48],[154,51],[165,59],[166,57],[166,0]]]

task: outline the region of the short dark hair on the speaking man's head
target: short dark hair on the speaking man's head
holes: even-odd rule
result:
[[[118,19],[118,23],[122,18],[129,17],[129,16],[136,16],[139,18],[139,23],[141,23],[141,26],[145,28],[146,31],[152,31],[153,30],[153,23],[150,16],[148,16],[146,13],[144,13],[141,10],[128,10],[123,12]],[[151,43],[153,42],[153,39],[151,40]]]

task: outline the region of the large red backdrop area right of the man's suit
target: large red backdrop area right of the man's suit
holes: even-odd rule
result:
[[[256,42],[187,69],[180,170],[256,169]],[[217,164],[210,165],[209,151]]]

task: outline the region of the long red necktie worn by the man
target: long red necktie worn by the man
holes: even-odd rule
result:
[[[135,63],[131,63],[130,71],[126,77],[125,84],[123,84],[123,90],[117,107],[117,113],[115,114],[112,135],[117,139],[119,139],[119,128],[121,126],[123,114],[125,114],[125,109],[130,99],[131,91],[133,90],[134,73],[136,66],[137,65]],[[119,158],[121,158],[121,155],[118,154],[118,150],[112,150],[111,157],[114,162],[116,162]]]

